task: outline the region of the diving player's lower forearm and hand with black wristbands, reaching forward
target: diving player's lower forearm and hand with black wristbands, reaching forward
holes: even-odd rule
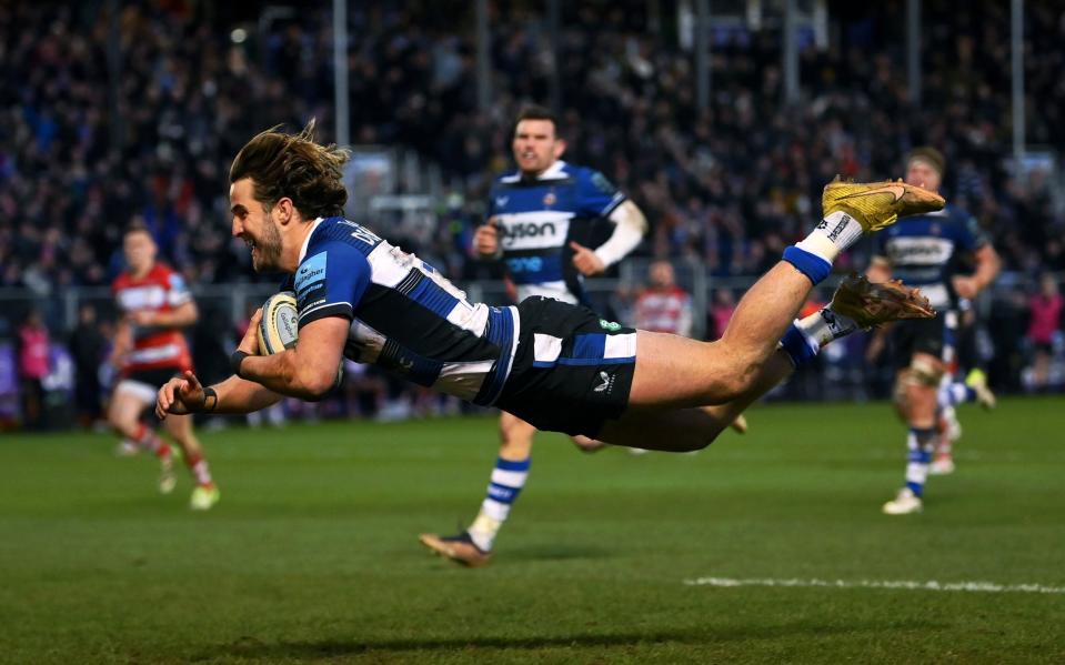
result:
[[[203,387],[193,372],[185,372],[159,389],[155,415],[162,420],[169,414],[251,413],[280,400],[278,393],[239,376],[230,376],[221,383]]]

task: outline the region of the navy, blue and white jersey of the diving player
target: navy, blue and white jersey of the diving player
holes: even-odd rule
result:
[[[491,405],[518,347],[515,308],[470,303],[413,254],[343,218],[319,219],[300,252],[300,326],[324,316],[351,321],[344,356],[426,387]]]

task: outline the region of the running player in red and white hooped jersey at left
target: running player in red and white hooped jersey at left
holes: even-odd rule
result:
[[[192,356],[181,329],[195,323],[199,314],[181,275],[155,262],[155,242],[144,226],[127,230],[122,250],[127,271],[111,285],[121,313],[112,356],[120,374],[108,420],[120,435],[159,457],[159,490],[169,494],[175,484],[170,446],[140,416],[154,403],[161,385],[192,370]],[[195,481],[190,506],[210,508],[218,502],[219,492],[203,449],[192,432],[192,416],[167,419],[165,426],[181,446]]]

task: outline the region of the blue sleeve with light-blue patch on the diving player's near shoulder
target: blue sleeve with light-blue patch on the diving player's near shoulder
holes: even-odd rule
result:
[[[370,262],[343,241],[317,243],[295,271],[300,326],[325,316],[354,319],[355,306],[370,284]]]

